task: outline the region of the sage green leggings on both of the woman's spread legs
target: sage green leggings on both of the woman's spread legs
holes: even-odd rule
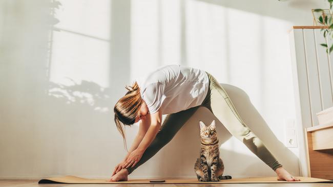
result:
[[[141,159],[134,167],[127,169],[129,174],[168,144],[185,122],[202,106],[208,108],[231,134],[243,142],[266,165],[274,171],[282,166],[267,150],[261,140],[245,125],[223,87],[212,75],[209,73],[207,75],[210,81],[209,90],[202,104],[166,116],[160,131],[156,134],[151,145],[144,151]]]

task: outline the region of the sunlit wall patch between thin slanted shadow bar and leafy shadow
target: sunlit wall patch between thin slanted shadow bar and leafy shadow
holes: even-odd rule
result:
[[[53,32],[50,81],[69,85],[73,79],[109,84],[109,42],[64,31]]]

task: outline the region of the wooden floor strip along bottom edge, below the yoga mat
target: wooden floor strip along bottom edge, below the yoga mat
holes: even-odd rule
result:
[[[333,183],[252,183],[252,184],[38,184],[38,180],[0,180],[0,186],[1,187],[7,187],[7,186],[16,186],[16,187],[22,187],[22,186],[38,186],[38,187],[91,187],[91,186],[99,186],[99,187],[111,187],[111,186],[127,186],[127,187],[143,187],[143,186],[149,186],[149,187],[169,187],[169,186],[205,186],[205,187],[252,187],[252,186],[273,186],[273,187],[310,187],[310,186],[333,186]]]

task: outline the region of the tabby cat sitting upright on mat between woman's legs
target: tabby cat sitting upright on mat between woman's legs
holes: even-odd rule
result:
[[[199,181],[219,181],[231,179],[231,176],[222,176],[224,166],[219,152],[219,140],[215,130],[215,120],[210,126],[200,121],[201,151],[200,158],[194,165],[194,171]]]

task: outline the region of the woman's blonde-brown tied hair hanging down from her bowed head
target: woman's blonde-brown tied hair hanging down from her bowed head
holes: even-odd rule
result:
[[[128,90],[127,93],[114,106],[114,121],[127,149],[124,126],[134,124],[142,99],[137,82],[125,88]]]

